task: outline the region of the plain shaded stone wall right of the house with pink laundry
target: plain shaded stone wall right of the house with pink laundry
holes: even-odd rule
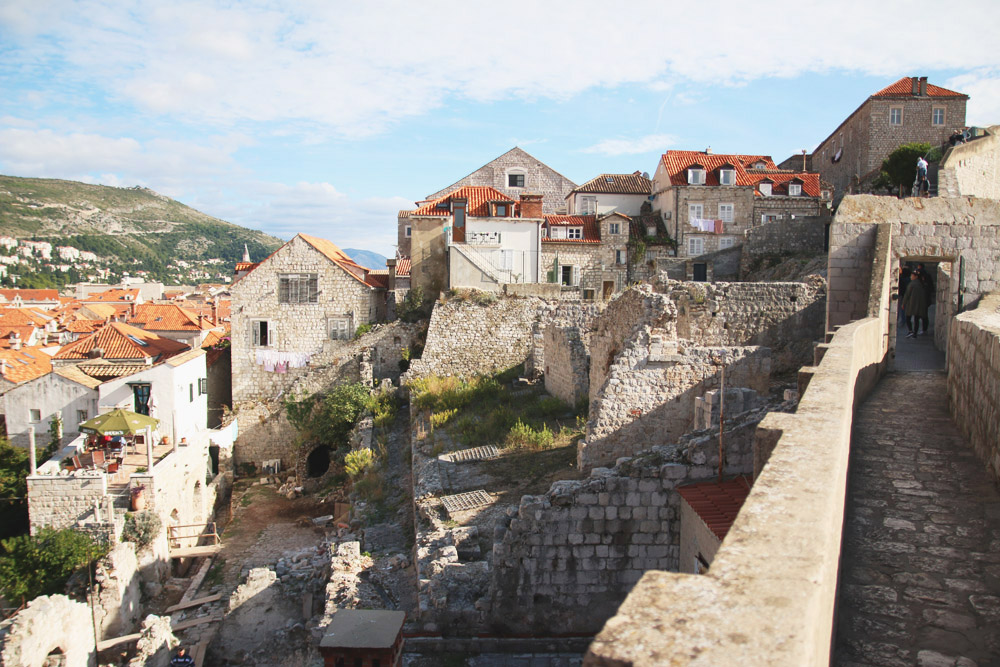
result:
[[[747,230],[740,257],[740,276],[761,268],[769,261],[792,256],[813,257],[826,252],[828,216],[776,220]]]

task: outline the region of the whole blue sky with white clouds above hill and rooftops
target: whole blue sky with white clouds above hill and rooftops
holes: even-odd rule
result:
[[[514,146],[576,183],[781,161],[903,76],[1000,124],[998,36],[996,0],[0,0],[0,173],[392,255],[399,209]]]

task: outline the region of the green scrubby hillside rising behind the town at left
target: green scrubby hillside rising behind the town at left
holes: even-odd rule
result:
[[[0,234],[88,250],[154,278],[177,260],[231,267],[243,244],[260,261],[283,243],[148,188],[16,176],[0,176]]]

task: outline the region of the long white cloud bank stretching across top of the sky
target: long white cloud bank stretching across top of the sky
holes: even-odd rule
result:
[[[566,99],[591,88],[677,81],[734,83],[831,70],[897,76],[920,69],[996,65],[992,0],[965,2],[947,49],[920,0],[801,3],[772,13],[744,2],[561,0],[530,18],[497,22],[465,0],[273,4],[5,3],[0,31],[16,44],[0,67],[53,60],[122,102],[192,123],[281,121],[297,134],[364,136],[451,99]],[[954,7],[954,6],[953,6]],[[957,8],[956,8],[956,11]],[[711,25],[706,39],[704,26]],[[498,29],[502,26],[502,29]],[[0,33],[2,34],[2,33]],[[924,45],[924,46],[920,46]],[[58,87],[54,80],[52,86]]]

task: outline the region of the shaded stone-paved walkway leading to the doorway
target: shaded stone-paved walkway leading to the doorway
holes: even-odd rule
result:
[[[1000,493],[944,373],[883,378],[852,448],[833,664],[1000,665]]]

